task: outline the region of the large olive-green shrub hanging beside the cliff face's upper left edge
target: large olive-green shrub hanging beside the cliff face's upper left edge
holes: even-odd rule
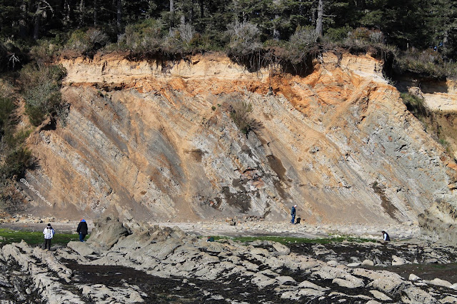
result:
[[[54,114],[61,105],[61,81],[66,75],[63,66],[30,64],[21,71],[26,114],[34,126]]]

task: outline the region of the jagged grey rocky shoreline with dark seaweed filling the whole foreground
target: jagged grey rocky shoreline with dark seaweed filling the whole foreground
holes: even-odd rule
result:
[[[293,229],[311,228],[288,226]],[[2,303],[457,302],[455,276],[422,277],[413,268],[453,265],[456,248],[424,240],[208,242],[178,227],[107,217],[85,243],[45,251],[21,242],[0,253]],[[403,267],[402,275],[394,266]]]

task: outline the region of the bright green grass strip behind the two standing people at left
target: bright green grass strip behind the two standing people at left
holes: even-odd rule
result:
[[[3,244],[20,243],[21,240],[25,240],[29,245],[37,245],[44,243],[44,235],[42,232],[30,232],[30,231],[16,231],[11,229],[0,229],[0,242]],[[86,240],[90,235],[86,236]],[[71,240],[79,240],[78,234],[66,234],[56,233],[52,238],[51,244],[66,245]]]

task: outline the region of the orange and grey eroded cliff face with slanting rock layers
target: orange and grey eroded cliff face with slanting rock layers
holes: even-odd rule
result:
[[[456,164],[369,56],[328,54],[306,77],[249,73],[224,56],[62,60],[66,126],[29,146],[34,213],[186,221],[249,214],[311,223],[417,221],[453,206]],[[230,111],[251,103],[248,136]]]

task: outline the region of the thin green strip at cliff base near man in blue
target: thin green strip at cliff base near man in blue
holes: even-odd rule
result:
[[[276,235],[266,235],[266,236],[238,236],[238,237],[229,237],[229,236],[215,236],[214,240],[237,240],[241,243],[248,243],[254,240],[271,240],[273,242],[278,242],[283,245],[289,245],[291,243],[308,243],[308,244],[329,244],[329,243],[341,243],[344,240],[348,242],[356,243],[366,243],[366,242],[375,242],[369,238],[351,238],[351,237],[334,237],[334,238],[293,238],[293,237],[284,237]]]

